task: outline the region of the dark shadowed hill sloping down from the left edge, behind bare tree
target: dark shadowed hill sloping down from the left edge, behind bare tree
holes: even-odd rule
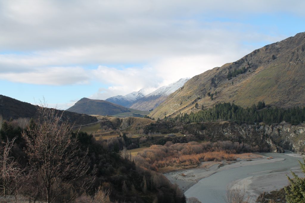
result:
[[[68,121],[71,124],[81,125],[97,122],[97,118],[85,114],[77,114],[70,111],[58,110],[62,115],[63,121]],[[22,102],[8,96],[0,95],[0,115],[5,120],[10,118],[38,118],[38,106],[27,102]]]

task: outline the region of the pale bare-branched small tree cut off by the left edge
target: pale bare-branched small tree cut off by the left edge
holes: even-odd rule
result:
[[[4,199],[4,202],[16,196],[23,173],[17,161],[10,157],[15,140],[16,137],[12,141],[2,142],[4,145],[0,146],[0,200]]]

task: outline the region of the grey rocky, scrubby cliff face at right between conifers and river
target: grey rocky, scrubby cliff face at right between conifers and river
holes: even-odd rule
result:
[[[231,140],[249,145],[257,145],[260,149],[271,152],[289,150],[303,153],[305,148],[305,124],[204,124],[206,129],[197,130],[195,135],[211,141]]]

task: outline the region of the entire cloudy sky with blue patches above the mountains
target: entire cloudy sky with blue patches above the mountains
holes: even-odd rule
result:
[[[303,0],[0,0],[0,94],[67,109],[242,58],[305,32]]]

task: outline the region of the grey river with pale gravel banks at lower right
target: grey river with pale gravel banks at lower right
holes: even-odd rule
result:
[[[288,185],[286,174],[291,177],[291,170],[303,175],[300,173],[300,165],[298,163],[298,160],[301,161],[302,159],[293,156],[294,154],[290,152],[258,154],[265,156],[265,158],[237,162],[223,167],[218,167],[219,165],[217,165],[211,167],[210,170],[203,168],[186,170],[186,174],[192,174],[190,177],[196,177],[197,174],[201,173],[199,177],[203,178],[197,179],[197,183],[194,183],[195,179],[192,180],[193,183],[190,181],[192,187],[186,187],[185,196],[187,198],[196,197],[202,203],[221,203],[225,202],[228,188],[233,185],[239,185],[240,189],[245,188],[246,196],[252,197],[252,202],[254,202],[260,193],[278,190]],[[266,159],[267,157],[273,157],[273,159]],[[178,173],[181,174],[184,171]],[[177,176],[173,178],[173,174],[168,173],[165,175],[170,181],[178,185],[182,184],[177,181]]]

